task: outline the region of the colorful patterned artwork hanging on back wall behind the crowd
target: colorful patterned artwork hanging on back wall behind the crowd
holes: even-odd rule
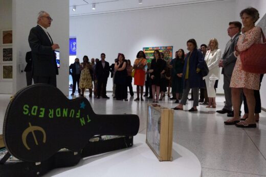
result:
[[[173,58],[173,46],[161,46],[161,47],[143,47],[143,52],[146,55],[147,61],[151,62],[154,50],[158,49],[164,53],[164,59],[167,61]]]

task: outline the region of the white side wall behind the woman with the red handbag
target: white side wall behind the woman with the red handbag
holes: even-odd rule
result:
[[[259,11],[259,20],[265,15],[266,13],[266,1],[265,0],[236,0],[236,17],[240,21],[239,13],[241,10],[247,7],[254,7]],[[259,20],[257,22],[259,22]],[[264,33],[265,34],[265,33]],[[261,98],[261,107],[266,109],[266,94],[264,94],[264,90],[266,90],[266,79],[265,75],[263,77],[261,88],[260,88],[260,98]]]

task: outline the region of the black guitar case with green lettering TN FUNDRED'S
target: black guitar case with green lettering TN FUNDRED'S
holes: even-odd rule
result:
[[[14,95],[6,111],[3,136],[8,153],[0,162],[0,176],[15,171],[19,176],[41,175],[73,166],[81,157],[130,147],[139,123],[137,115],[95,114],[86,98],[69,100],[51,85],[26,87]],[[95,135],[123,137],[90,142]],[[59,151],[62,148],[68,150]],[[5,163],[9,155],[20,162]]]

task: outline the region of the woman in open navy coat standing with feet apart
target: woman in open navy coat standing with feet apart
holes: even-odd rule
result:
[[[189,39],[187,41],[187,49],[189,53],[185,58],[185,64],[183,69],[183,95],[181,102],[178,106],[173,108],[174,110],[183,110],[183,105],[186,105],[187,97],[190,89],[193,91],[193,107],[188,111],[197,111],[198,106],[198,89],[203,86],[203,79],[200,73],[204,66],[204,57],[202,52],[197,49],[197,43],[195,39]]]

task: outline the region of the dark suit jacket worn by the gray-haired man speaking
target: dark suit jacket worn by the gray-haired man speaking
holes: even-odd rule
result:
[[[52,77],[58,74],[56,56],[49,37],[40,26],[33,27],[29,35],[32,51],[33,75],[38,77]]]

